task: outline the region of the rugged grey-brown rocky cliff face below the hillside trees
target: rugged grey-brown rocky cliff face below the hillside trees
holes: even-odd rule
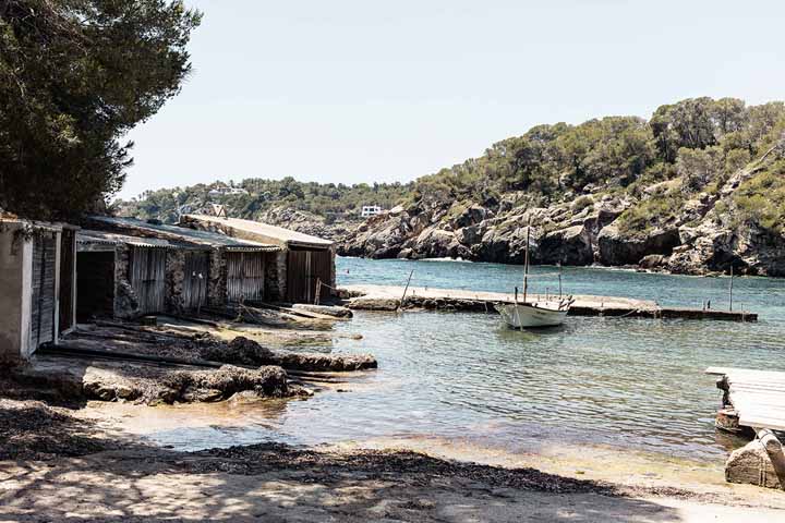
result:
[[[462,258],[520,264],[531,227],[534,264],[636,266],[675,273],[785,276],[785,236],[739,208],[740,192],[761,173],[783,179],[782,144],[711,191],[690,193],[684,180],[645,187],[639,197],[590,186],[546,207],[526,194],[498,205],[422,199],[334,234],[339,254],[371,258]],[[666,191],[663,196],[663,191]],[[774,197],[772,195],[772,197]],[[631,230],[629,216],[655,198],[677,205]],[[753,214],[754,215],[754,214]]]

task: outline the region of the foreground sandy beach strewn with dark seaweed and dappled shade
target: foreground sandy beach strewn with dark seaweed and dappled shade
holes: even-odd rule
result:
[[[744,522],[785,510],[782,492],[612,483],[396,448],[181,452],[40,401],[0,399],[0,421],[3,520]]]

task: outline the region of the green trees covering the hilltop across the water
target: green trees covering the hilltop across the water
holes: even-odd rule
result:
[[[581,194],[626,192],[640,199],[623,220],[632,230],[663,221],[652,220],[656,218],[652,215],[666,220],[689,193],[716,191],[784,131],[782,102],[748,107],[735,98],[695,98],[660,107],[650,121],[607,117],[578,125],[536,125],[521,136],[493,144],[479,158],[408,184],[347,186],[300,183],[291,178],[250,179],[241,184],[247,195],[222,197],[222,202],[237,216],[255,218],[278,205],[324,216],[398,203],[419,203],[424,208],[479,203],[498,210],[503,205],[544,206]],[[644,197],[647,187],[665,181],[673,182],[668,191]],[[174,192],[189,205],[204,205],[208,191],[207,185],[196,185]],[[167,203],[171,193],[144,195],[125,203],[125,211],[142,218],[177,219],[172,204]]]

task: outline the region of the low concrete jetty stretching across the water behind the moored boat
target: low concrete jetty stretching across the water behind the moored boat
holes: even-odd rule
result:
[[[341,297],[349,300],[349,308],[357,311],[396,311],[403,296],[403,287],[358,284],[339,289]],[[636,300],[619,296],[572,295],[575,303],[571,316],[624,316],[641,318],[722,319],[734,321],[757,321],[758,314],[749,311],[718,311],[689,307],[663,307],[651,300]],[[520,295],[519,295],[520,300]],[[551,294],[529,294],[528,302],[546,303],[557,301]],[[502,292],[467,291],[459,289],[435,289],[410,287],[402,308],[425,308],[431,311],[494,312],[497,303],[514,303],[512,294]]]

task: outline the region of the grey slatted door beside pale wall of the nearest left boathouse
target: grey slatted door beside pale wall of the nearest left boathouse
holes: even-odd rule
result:
[[[40,232],[33,240],[31,346],[55,340],[55,271],[57,236]]]

